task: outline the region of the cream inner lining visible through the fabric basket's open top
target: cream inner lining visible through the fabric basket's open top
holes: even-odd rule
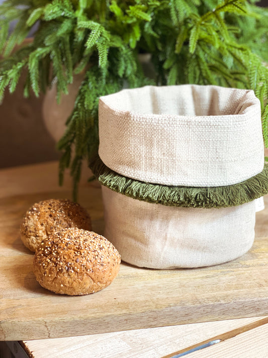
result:
[[[133,114],[222,116],[243,114],[257,104],[253,91],[218,86],[145,86],[106,96],[112,109]]]

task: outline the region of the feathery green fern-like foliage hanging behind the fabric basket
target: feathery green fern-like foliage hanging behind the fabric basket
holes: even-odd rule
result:
[[[36,23],[33,42],[23,44]],[[0,98],[6,88],[15,91],[23,68],[25,96],[56,83],[58,101],[73,76],[84,73],[57,144],[60,181],[70,167],[74,197],[81,160],[90,161],[98,149],[99,97],[126,84],[252,89],[268,146],[268,10],[254,1],[7,0],[0,6],[0,28]],[[151,54],[153,79],[143,73],[139,53]]]

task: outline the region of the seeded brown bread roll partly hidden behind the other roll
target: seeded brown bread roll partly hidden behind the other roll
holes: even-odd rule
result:
[[[81,205],[67,199],[44,200],[26,212],[21,225],[21,239],[28,249],[35,252],[48,235],[72,227],[92,230],[90,216]]]

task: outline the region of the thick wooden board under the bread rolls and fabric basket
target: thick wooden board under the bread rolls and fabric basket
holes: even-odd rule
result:
[[[33,254],[23,246],[19,228],[34,202],[71,197],[69,188],[51,184],[55,170],[54,164],[43,164],[35,175],[31,175],[32,167],[0,171],[0,340],[68,337],[268,315],[267,197],[266,209],[257,213],[252,249],[232,262],[176,270],[142,269],[122,263],[114,282],[93,295],[69,297],[43,289],[32,272]],[[99,185],[82,185],[80,203],[90,212],[94,230],[102,234]]]

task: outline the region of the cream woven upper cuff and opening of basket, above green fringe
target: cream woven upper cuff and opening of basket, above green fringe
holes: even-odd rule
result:
[[[260,104],[251,90],[146,86],[99,102],[99,155],[149,183],[224,186],[263,169]]]

